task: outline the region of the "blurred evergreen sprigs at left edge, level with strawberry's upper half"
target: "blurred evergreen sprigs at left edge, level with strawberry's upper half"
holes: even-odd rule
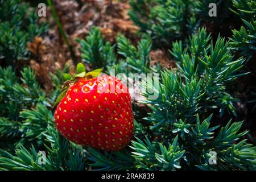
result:
[[[47,105],[46,94],[36,82],[34,71],[31,68],[24,68],[21,75],[22,78],[19,79],[11,67],[0,68],[1,116],[15,121],[18,120],[22,109],[43,102]]]

